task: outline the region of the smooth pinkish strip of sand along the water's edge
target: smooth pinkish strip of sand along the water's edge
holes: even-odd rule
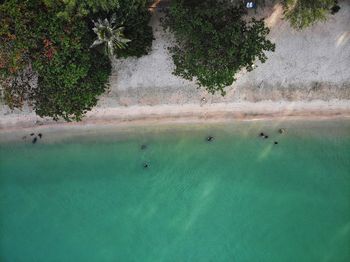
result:
[[[96,107],[80,122],[43,119],[35,113],[2,114],[0,132],[39,128],[83,126],[142,126],[169,123],[215,123],[253,120],[332,119],[350,120],[350,101],[237,102],[129,107]]]

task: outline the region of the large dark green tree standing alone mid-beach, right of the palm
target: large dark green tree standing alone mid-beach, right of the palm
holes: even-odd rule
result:
[[[265,62],[264,51],[275,49],[266,39],[269,29],[263,21],[246,22],[244,14],[229,0],[174,0],[165,20],[177,41],[170,50],[174,74],[224,95],[239,70],[253,70],[257,58]]]

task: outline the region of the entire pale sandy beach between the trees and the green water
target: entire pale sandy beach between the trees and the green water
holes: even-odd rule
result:
[[[208,94],[172,74],[172,36],[153,14],[155,40],[149,55],[113,61],[110,86],[78,123],[40,118],[33,109],[10,110],[0,102],[0,132],[85,125],[134,125],[277,118],[350,117],[350,5],[325,23],[304,31],[290,28],[279,5],[257,14],[271,29],[276,51],[252,72],[242,71],[227,95]]]

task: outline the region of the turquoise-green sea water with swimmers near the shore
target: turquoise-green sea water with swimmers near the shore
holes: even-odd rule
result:
[[[0,144],[0,261],[350,261],[349,122],[49,136]]]

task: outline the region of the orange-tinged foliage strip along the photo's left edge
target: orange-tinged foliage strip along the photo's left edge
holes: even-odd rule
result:
[[[23,1],[0,5],[0,86],[11,109],[22,107],[33,92],[31,50],[37,48],[38,36],[31,29],[36,7],[34,2]]]

